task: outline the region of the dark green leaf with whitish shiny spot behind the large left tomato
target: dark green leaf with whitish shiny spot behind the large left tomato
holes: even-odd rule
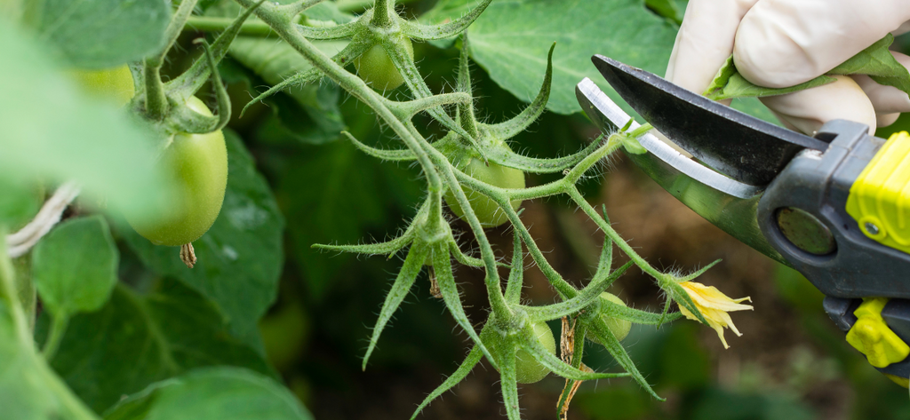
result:
[[[227,317],[231,331],[258,341],[256,323],[275,300],[284,265],[284,217],[255,162],[234,132],[227,141],[227,191],[221,213],[193,246],[197,265],[188,269],[177,248],[152,245],[129,227],[126,243],[160,275],[173,275],[211,299]]]

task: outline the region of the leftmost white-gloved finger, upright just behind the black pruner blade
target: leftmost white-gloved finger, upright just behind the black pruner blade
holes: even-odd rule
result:
[[[733,36],[758,0],[690,0],[665,78],[701,94],[733,53]]]

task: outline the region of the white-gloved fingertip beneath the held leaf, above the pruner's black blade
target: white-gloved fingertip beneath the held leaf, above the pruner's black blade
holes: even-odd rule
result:
[[[814,135],[825,122],[834,119],[869,125],[869,134],[875,134],[875,108],[863,89],[850,76],[835,77],[837,81],[829,85],[760,99],[785,125],[807,135]]]

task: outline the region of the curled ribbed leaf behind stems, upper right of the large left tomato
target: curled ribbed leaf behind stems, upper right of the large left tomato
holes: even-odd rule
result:
[[[326,55],[335,55],[347,41],[315,41]],[[230,55],[246,65],[268,85],[278,85],[284,79],[312,67],[284,41],[270,38],[239,36],[230,46]],[[293,102],[274,95],[270,105],[278,108],[278,116],[290,133],[299,141],[322,144],[338,139],[345,129],[339,110],[340,88],[334,83],[313,83],[294,86],[284,92]],[[307,117],[301,118],[306,115]]]

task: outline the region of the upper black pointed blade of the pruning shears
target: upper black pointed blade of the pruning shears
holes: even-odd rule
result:
[[[828,144],[743,114],[603,55],[591,61],[642,118],[693,156],[749,185],[768,185],[804,148]]]

